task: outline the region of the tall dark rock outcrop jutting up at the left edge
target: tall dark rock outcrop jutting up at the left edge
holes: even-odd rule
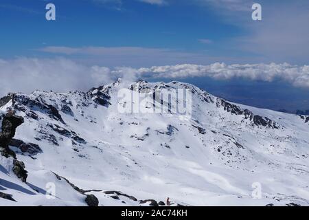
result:
[[[3,116],[0,132],[1,155],[16,157],[15,153],[8,148],[8,145],[15,135],[16,128],[21,124],[23,124],[23,118],[15,115],[13,111],[9,111]]]

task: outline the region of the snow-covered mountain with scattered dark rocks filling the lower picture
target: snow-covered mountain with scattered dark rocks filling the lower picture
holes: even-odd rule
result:
[[[124,87],[192,89],[191,118],[119,113],[132,104],[117,96]],[[174,206],[309,205],[308,116],[234,104],[186,83],[121,80],[87,93],[9,94],[0,115],[0,145],[6,125],[23,121],[1,146],[2,206],[148,206],[168,197]]]

